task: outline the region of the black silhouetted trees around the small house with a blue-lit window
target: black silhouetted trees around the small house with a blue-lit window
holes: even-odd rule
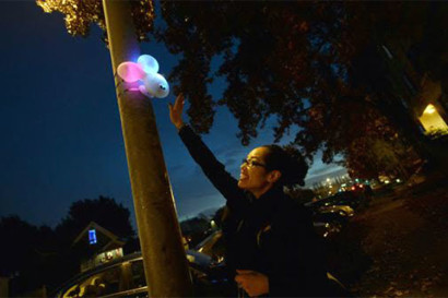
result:
[[[101,195],[74,202],[55,229],[31,225],[14,215],[2,217],[0,275],[12,278],[12,295],[42,285],[51,290],[79,272],[83,255],[72,245],[90,222],[96,222],[138,247],[129,215],[129,211],[114,199]]]

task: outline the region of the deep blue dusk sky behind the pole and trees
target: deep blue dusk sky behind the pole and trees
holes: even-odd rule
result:
[[[128,207],[133,222],[110,57],[101,29],[93,25],[87,38],[72,37],[62,14],[46,14],[34,1],[0,1],[0,216],[16,214],[31,224],[55,226],[71,203],[106,195]],[[162,73],[176,65],[163,45],[143,44],[142,53],[154,56]],[[215,99],[224,87],[222,82],[212,85]],[[168,102],[174,102],[173,94],[153,99],[153,106],[182,219],[224,200],[177,136]],[[244,147],[236,138],[236,120],[221,108],[203,140],[238,176],[239,160],[252,147],[273,141],[271,127]],[[317,156],[307,184],[335,171],[342,168],[323,166]]]

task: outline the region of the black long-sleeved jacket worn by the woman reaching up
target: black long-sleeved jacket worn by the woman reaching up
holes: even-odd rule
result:
[[[237,180],[188,126],[179,135],[227,200],[223,234],[231,278],[236,269],[254,270],[269,277],[272,297],[327,296],[326,259],[310,213],[279,188],[255,199],[238,188]]]

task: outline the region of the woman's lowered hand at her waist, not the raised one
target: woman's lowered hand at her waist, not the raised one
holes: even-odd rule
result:
[[[236,270],[236,272],[235,282],[250,297],[269,293],[269,278],[264,274],[251,270]]]

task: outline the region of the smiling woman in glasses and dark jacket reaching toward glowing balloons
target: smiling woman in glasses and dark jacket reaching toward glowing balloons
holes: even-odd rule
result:
[[[182,121],[184,96],[169,117],[192,158],[227,200],[223,220],[226,264],[250,297],[323,297],[327,270],[310,214],[283,193],[304,183],[308,166],[276,145],[252,150],[234,179]]]

